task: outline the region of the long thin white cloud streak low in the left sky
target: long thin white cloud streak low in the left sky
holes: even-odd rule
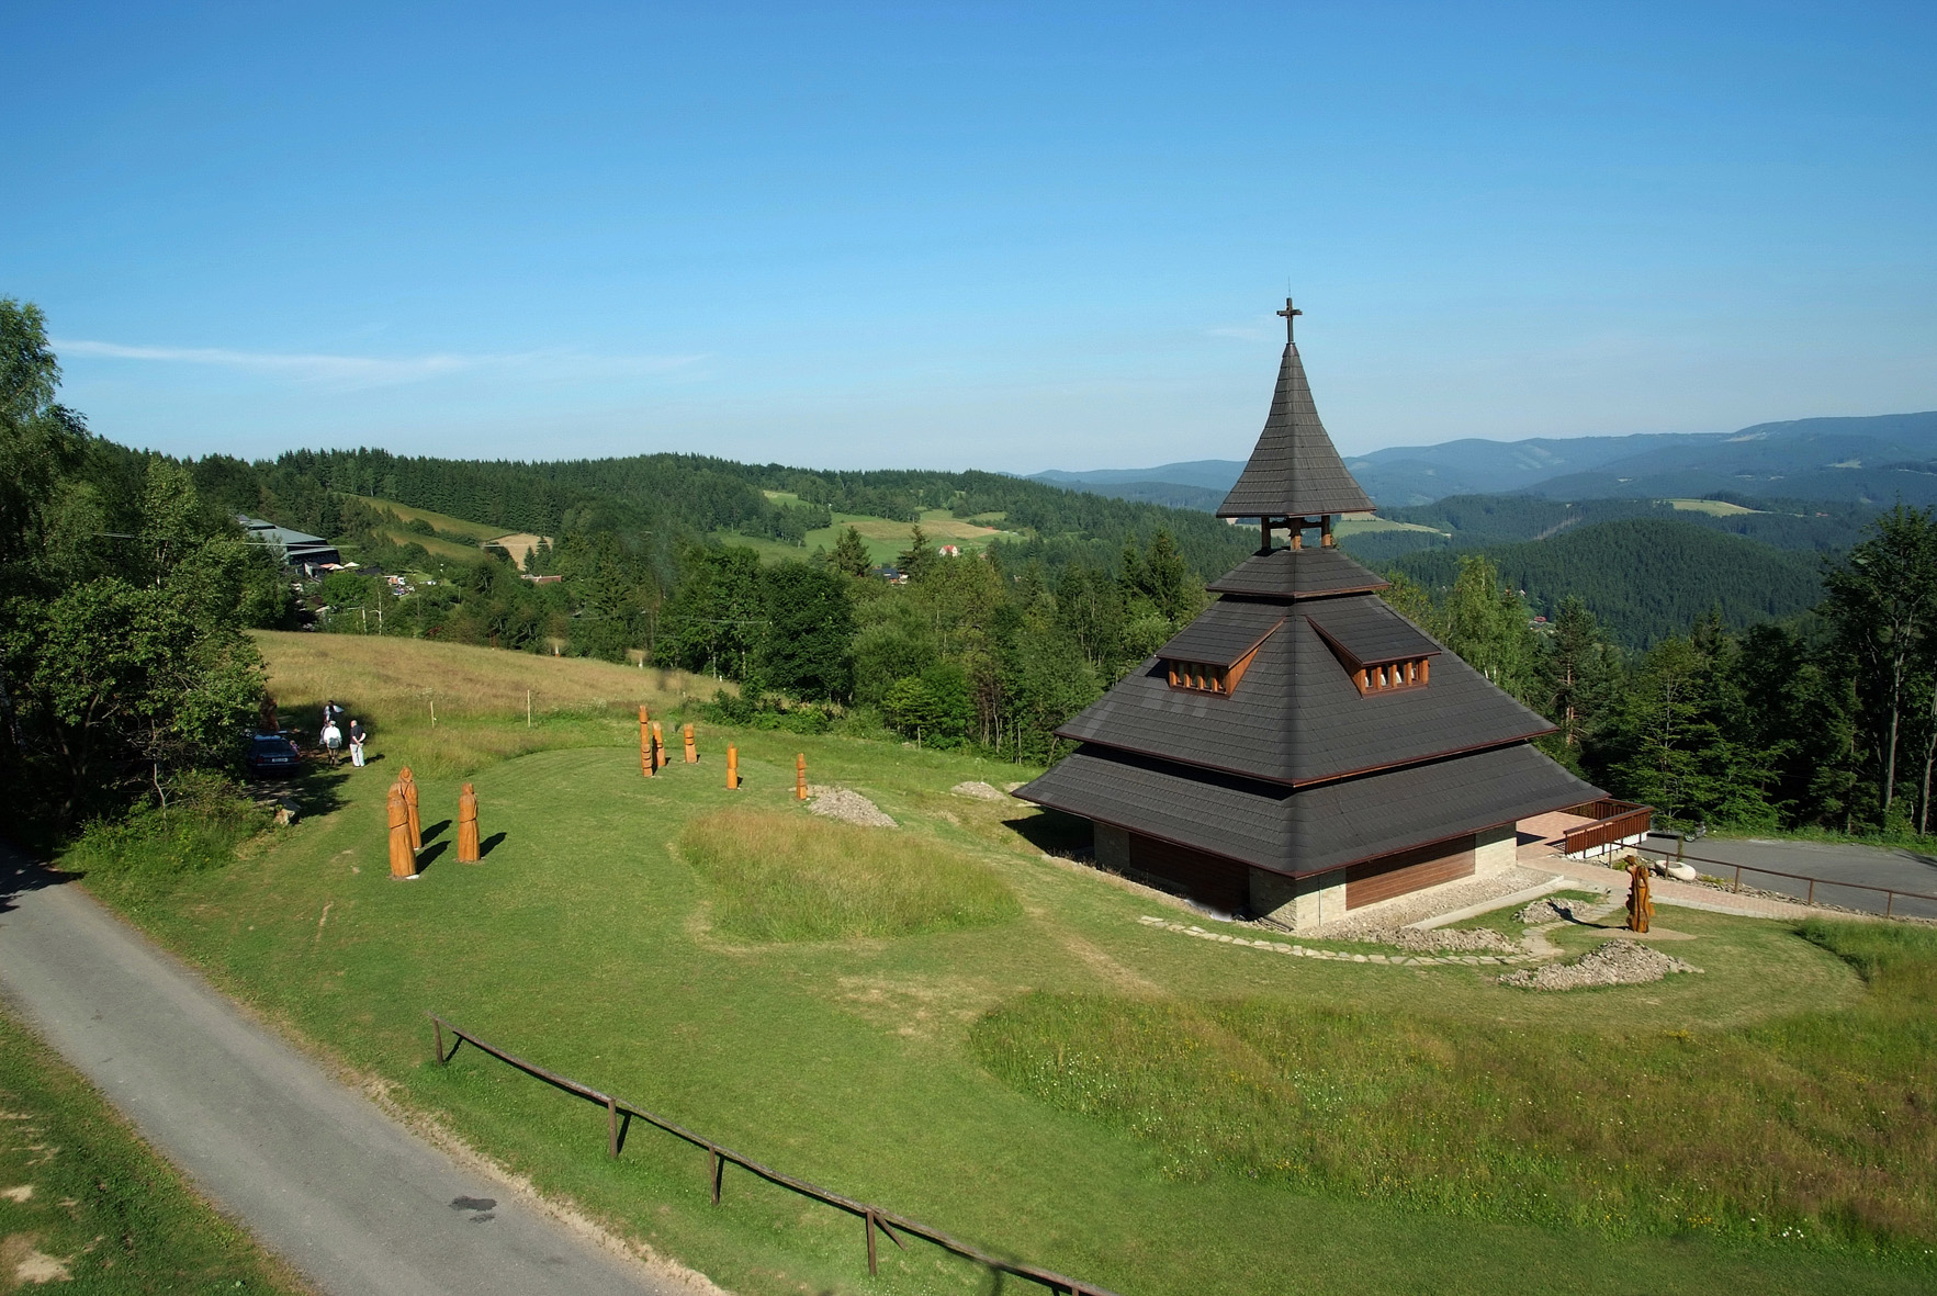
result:
[[[81,337],[52,339],[56,355],[159,364],[207,364],[215,368],[283,374],[298,382],[389,386],[478,370],[523,370],[537,378],[643,376],[699,364],[707,356],[602,356],[577,351],[519,351],[506,355],[438,353],[424,356],[347,356],[323,353],[231,351],[227,347],[128,347]]]

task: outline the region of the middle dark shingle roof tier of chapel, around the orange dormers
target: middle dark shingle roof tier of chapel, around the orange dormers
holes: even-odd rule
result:
[[[1340,595],[1317,608],[1335,633],[1404,632],[1437,647],[1377,595]],[[1282,612],[1275,602],[1222,599],[1201,620],[1238,624]],[[1273,783],[1313,783],[1552,728],[1453,653],[1433,661],[1426,688],[1360,695],[1338,657],[1294,614],[1257,649],[1230,695],[1174,690],[1153,657],[1056,732]]]

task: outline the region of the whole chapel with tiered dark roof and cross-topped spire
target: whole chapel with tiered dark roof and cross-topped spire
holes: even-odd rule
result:
[[[1395,612],[1333,544],[1371,513],[1319,422],[1284,302],[1257,447],[1218,517],[1257,554],[1156,657],[1058,732],[1023,800],[1094,825],[1096,864],[1309,930],[1515,866],[1515,823],[1602,796],[1536,752],[1553,726]],[[1275,540],[1284,533],[1284,540]]]

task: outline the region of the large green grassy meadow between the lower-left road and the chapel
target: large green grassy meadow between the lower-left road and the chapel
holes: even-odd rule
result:
[[[271,664],[291,639],[263,639]],[[1927,940],[1664,910],[1705,974],[1571,996],[1290,959],[1141,924],[1180,910],[1044,856],[1071,839],[1038,812],[949,792],[1029,769],[699,725],[701,763],[647,781],[616,678],[525,728],[498,676],[554,688],[569,663],[426,643],[385,682],[376,641],[345,643],[354,668],[314,657],[331,643],[279,666],[285,707],[325,676],[353,709],[358,690],[395,699],[380,761],[314,777],[333,808],[217,872],[130,854],[91,860],[87,885],[399,1102],[734,1292],[992,1288],[914,1242],[883,1244],[870,1281],[852,1219],[732,1170],[715,1209],[703,1155],[641,1126],[606,1160],[602,1112],[475,1050],[432,1065],[422,1013],[1125,1296],[1937,1281]],[[432,672],[496,692],[430,730],[409,690]],[[655,705],[680,697],[637,674]],[[901,827],[806,818],[796,752]],[[405,761],[430,845],[397,883],[382,802]],[[463,777],[494,843],[478,866],[449,850]]]

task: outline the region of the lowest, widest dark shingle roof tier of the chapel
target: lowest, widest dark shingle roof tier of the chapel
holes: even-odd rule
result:
[[[1302,876],[1579,806],[1600,790],[1526,744],[1307,788],[1085,746],[1017,796]]]

